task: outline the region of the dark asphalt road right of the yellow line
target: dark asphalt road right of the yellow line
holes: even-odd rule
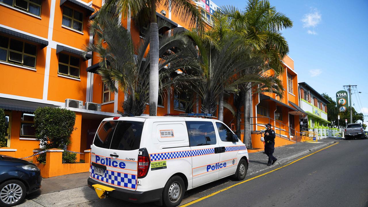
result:
[[[368,207],[368,139],[341,140],[190,206]]]

